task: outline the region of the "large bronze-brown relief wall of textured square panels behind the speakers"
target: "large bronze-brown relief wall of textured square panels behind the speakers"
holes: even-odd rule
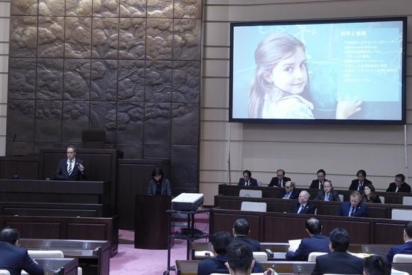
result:
[[[105,129],[197,190],[202,0],[11,1],[7,154]]]

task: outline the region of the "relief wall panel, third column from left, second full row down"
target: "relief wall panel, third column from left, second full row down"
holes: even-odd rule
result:
[[[66,100],[89,100],[89,59],[65,59],[65,82],[63,96]]]

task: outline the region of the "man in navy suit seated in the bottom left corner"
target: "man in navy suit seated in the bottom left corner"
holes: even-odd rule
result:
[[[20,275],[24,270],[30,275],[43,275],[43,268],[34,263],[28,250],[20,247],[20,234],[14,228],[4,228],[0,232],[0,270],[8,270],[10,275]]]

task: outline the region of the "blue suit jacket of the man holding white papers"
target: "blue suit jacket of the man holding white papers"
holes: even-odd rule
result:
[[[329,252],[329,237],[316,234],[302,239],[299,248],[295,252],[286,253],[286,259],[290,261],[307,261],[307,256],[312,252]]]

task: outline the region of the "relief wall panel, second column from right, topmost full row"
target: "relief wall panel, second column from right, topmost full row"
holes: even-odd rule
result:
[[[148,59],[172,59],[173,19],[147,19],[146,35]]]

